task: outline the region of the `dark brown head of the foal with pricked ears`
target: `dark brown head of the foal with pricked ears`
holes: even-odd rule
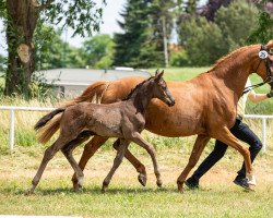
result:
[[[153,93],[155,98],[161,99],[163,102],[165,102],[168,106],[174,106],[175,105],[175,98],[170,94],[166,82],[163,78],[164,71],[159,73],[158,70],[155,72],[155,76],[153,76],[152,80],[154,80],[154,85],[153,85]]]

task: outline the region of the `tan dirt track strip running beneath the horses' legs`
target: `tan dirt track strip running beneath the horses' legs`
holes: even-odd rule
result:
[[[43,149],[41,149],[43,150]],[[76,160],[80,159],[81,150],[75,154]],[[109,171],[112,159],[115,157],[114,150],[99,150],[87,164],[84,170],[85,182],[102,181]],[[147,171],[147,184],[155,184],[155,175],[153,174],[153,166],[150,157],[146,154],[138,153],[138,158],[145,165]],[[203,159],[206,155],[203,155]],[[0,180],[16,180],[16,178],[25,178],[31,180],[38,169],[39,162],[43,158],[43,152],[38,155],[33,155],[29,150],[20,149],[13,155],[0,156]],[[176,185],[176,180],[188,161],[189,155],[183,155],[179,150],[159,150],[158,164],[161,167],[162,178],[164,184]],[[200,161],[199,161],[200,164]],[[225,185],[233,183],[237,170],[240,168],[241,157],[239,155],[229,153],[216,166],[214,166],[200,181],[201,186]],[[257,177],[258,187],[262,185],[273,184],[273,157],[270,154],[260,155],[254,162],[254,172]],[[192,172],[191,172],[192,173]],[[190,174],[191,174],[190,173]],[[50,178],[70,178],[73,171],[62,156],[58,154],[47,166],[43,179]],[[138,183],[138,172],[129,164],[123,160],[112,181]]]

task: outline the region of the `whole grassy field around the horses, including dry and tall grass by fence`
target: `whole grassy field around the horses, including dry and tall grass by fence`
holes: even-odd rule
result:
[[[206,71],[202,69],[167,69],[168,81],[189,80]],[[150,70],[154,73],[154,69]],[[257,76],[251,77],[258,82]],[[259,92],[266,92],[262,87]],[[273,100],[248,105],[249,113],[272,114]],[[2,98],[0,105],[55,107],[58,102],[20,98]],[[271,107],[272,106],[272,107]],[[0,215],[66,215],[83,217],[273,217],[273,122],[268,123],[268,150],[260,154],[254,164],[258,180],[256,192],[245,192],[233,184],[242,158],[233,149],[201,181],[201,189],[177,193],[176,179],[186,166],[194,136],[167,138],[144,132],[144,136],[156,147],[164,187],[158,190],[150,157],[136,145],[133,154],[146,166],[147,186],[138,182],[138,173],[124,160],[114,175],[108,191],[100,193],[100,185],[112,165],[115,152],[111,142],[102,147],[88,162],[81,193],[72,191],[71,167],[62,154],[48,165],[44,177],[32,196],[24,196],[36,173],[46,146],[37,144],[33,125],[41,112],[16,112],[15,149],[8,148],[9,113],[0,111]],[[259,136],[261,123],[248,121]],[[212,149],[209,143],[201,159]],[[48,146],[48,145],[47,145]],[[76,148],[80,159],[83,146]],[[200,160],[201,161],[201,160]],[[199,162],[200,162],[199,161]]]

